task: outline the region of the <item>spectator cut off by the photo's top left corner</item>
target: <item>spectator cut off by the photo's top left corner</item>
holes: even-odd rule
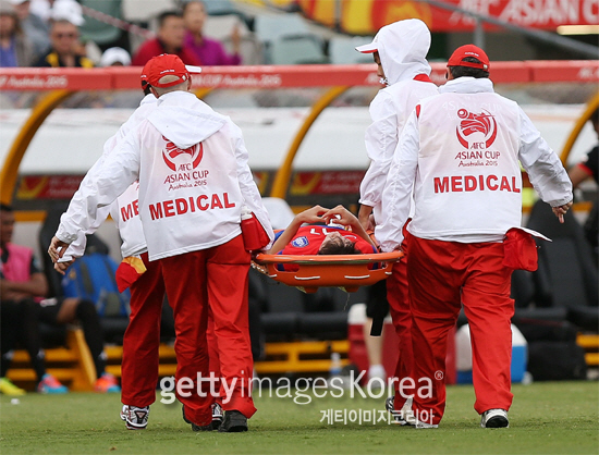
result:
[[[0,2],[0,66],[29,66],[35,59],[33,47],[12,4]]]

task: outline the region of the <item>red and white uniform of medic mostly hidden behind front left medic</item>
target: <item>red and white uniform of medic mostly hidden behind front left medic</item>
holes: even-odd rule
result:
[[[156,109],[156,97],[147,95],[119,132],[105,144],[103,153],[84,177],[80,189],[73,196],[69,209],[62,216],[68,220],[81,210],[89,182],[101,169],[106,158],[118,148],[126,135],[137,127]],[[139,256],[146,266],[146,272],[131,285],[131,315],[123,336],[123,359],[121,365],[121,399],[132,406],[149,406],[156,401],[158,382],[160,319],[164,299],[164,284],[158,262],[150,262],[147,255],[146,238],[139,220],[138,194],[139,184],[133,183],[110,206],[97,210],[90,229],[77,235],[69,245],[62,260],[77,258],[85,251],[85,234],[93,234],[110,212],[117,223],[122,239],[123,257]]]

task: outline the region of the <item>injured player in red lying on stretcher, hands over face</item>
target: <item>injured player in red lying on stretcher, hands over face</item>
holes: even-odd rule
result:
[[[328,224],[333,221],[334,224]],[[303,225],[308,223],[309,225]],[[337,225],[335,225],[337,224]],[[345,230],[347,226],[351,231]],[[320,206],[295,216],[277,233],[269,255],[364,255],[378,253],[358,219],[343,206]]]

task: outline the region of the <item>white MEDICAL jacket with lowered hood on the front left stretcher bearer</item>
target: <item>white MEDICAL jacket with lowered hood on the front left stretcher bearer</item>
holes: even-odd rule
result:
[[[99,207],[136,180],[150,260],[229,242],[241,234],[243,205],[273,237],[240,128],[191,93],[158,99],[147,120],[105,160],[85,197],[85,219],[61,223],[57,236],[73,241]]]

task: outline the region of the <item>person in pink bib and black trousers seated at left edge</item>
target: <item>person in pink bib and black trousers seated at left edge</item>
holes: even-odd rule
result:
[[[115,378],[106,372],[106,355],[100,319],[91,302],[80,298],[44,298],[48,282],[34,259],[33,250],[11,243],[14,213],[10,206],[0,205],[1,274],[1,361],[0,391],[9,393],[5,379],[10,353],[19,341],[29,354],[40,393],[65,393],[66,388],[46,372],[39,334],[39,321],[51,325],[81,322],[85,341],[96,367],[97,392],[120,392]],[[4,388],[3,388],[4,386]],[[15,392],[12,390],[12,392]]]

